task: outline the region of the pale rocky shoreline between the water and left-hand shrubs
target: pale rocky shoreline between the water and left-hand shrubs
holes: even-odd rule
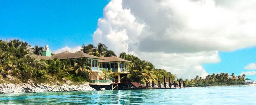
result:
[[[34,81],[28,83],[13,84],[0,83],[0,94],[3,93],[35,93],[35,92],[72,92],[72,91],[95,91],[96,89],[89,86],[89,82],[78,85],[60,84],[59,82],[53,85],[41,83],[37,84]]]

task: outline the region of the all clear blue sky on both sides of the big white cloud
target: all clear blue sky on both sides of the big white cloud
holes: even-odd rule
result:
[[[93,42],[92,35],[98,27],[98,19],[104,18],[103,8],[109,1],[0,1],[0,39],[20,39],[32,46],[35,44],[39,46],[48,44],[52,51],[65,46],[72,48],[82,46],[82,44],[94,44],[96,42]],[[144,5],[144,3],[142,4]],[[140,6],[140,4],[133,6]],[[147,11],[144,12],[146,13]],[[134,14],[136,15],[136,12]],[[110,42],[112,41],[110,40]],[[118,51],[119,49],[111,50]],[[220,51],[219,56],[221,58],[220,63],[202,64],[207,73],[227,72],[239,75],[242,71],[252,71],[245,70],[244,66],[249,63],[256,63],[256,47],[227,52]],[[142,55],[140,57],[143,59]],[[144,57],[144,59],[150,61],[148,58],[147,56]],[[154,62],[153,60],[152,62]],[[180,64],[182,62],[177,63]],[[155,65],[158,64],[155,63]],[[175,64],[170,64],[169,66],[173,65]],[[162,66],[160,65],[160,67]],[[256,75],[247,76],[247,78],[256,80]]]

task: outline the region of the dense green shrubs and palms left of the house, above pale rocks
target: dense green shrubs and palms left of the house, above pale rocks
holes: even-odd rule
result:
[[[49,80],[68,78],[77,82],[89,81],[86,58],[63,60],[57,58],[53,60],[40,60],[36,55],[41,55],[43,47],[35,46],[31,48],[26,42],[15,40],[0,40],[0,75],[6,78],[7,75],[16,76],[21,80]],[[83,61],[80,62],[79,61]],[[72,61],[77,63],[72,67]],[[74,69],[76,68],[76,70]]]

